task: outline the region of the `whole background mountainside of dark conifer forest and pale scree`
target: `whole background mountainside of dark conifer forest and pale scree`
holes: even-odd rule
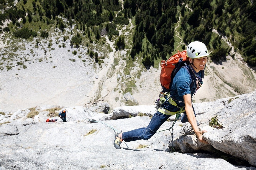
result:
[[[4,110],[97,102],[108,102],[111,109],[152,105],[161,91],[161,59],[196,40],[207,44],[211,60],[194,102],[256,88],[255,71],[245,64],[253,68],[255,56],[255,50],[251,54],[255,27],[247,29],[249,23],[255,24],[248,14],[255,6],[250,1],[226,2],[222,11],[235,6],[227,13],[220,12],[222,1],[202,2],[205,5],[196,1],[200,9],[191,1],[179,1],[180,5],[173,1],[2,1],[0,107]],[[209,6],[212,11],[206,10]],[[153,7],[157,9],[149,13]],[[82,17],[86,12],[89,18]],[[252,31],[250,45],[243,31]],[[250,56],[247,47],[252,47],[247,49]],[[132,95],[128,100],[127,92]]]

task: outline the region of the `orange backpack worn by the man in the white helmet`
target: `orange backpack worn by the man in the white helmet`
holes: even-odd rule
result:
[[[161,61],[160,83],[164,91],[169,92],[172,80],[182,66],[186,66],[188,60],[186,50],[174,54],[169,59]],[[187,68],[187,67],[185,67]]]

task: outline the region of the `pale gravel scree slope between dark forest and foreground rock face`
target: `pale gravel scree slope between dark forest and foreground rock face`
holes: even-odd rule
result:
[[[130,35],[132,27],[132,23],[123,27],[120,34]],[[70,31],[66,29],[66,33]],[[94,49],[99,56],[107,57],[101,65],[95,64],[87,54],[86,46],[71,48],[70,40],[63,42],[60,33],[56,29],[37,48],[34,46],[36,40],[10,41],[12,45],[8,45],[8,39],[1,39],[1,55],[9,55],[11,51],[13,57],[5,56],[2,66],[13,63],[13,67],[0,70],[0,108],[16,111],[46,104],[90,106],[97,102],[108,102],[113,110],[125,105],[153,105],[158,99],[161,91],[160,68],[146,69],[135,61],[135,67],[131,67],[127,75],[124,71],[126,59],[123,56],[128,55],[128,49],[115,51],[114,41],[110,41],[107,36],[102,37],[105,45],[99,47],[95,44],[97,48]],[[52,44],[52,50],[44,50],[48,48],[47,42],[56,40],[66,47]],[[74,51],[77,51],[76,55]],[[25,62],[21,66],[18,61],[24,58]],[[193,100],[195,103],[215,101],[252,92],[256,89],[255,77],[255,71],[242,62],[239,53],[234,59],[227,56],[227,60],[220,63],[209,61],[204,84]],[[125,89],[131,92],[126,94],[128,91]]]

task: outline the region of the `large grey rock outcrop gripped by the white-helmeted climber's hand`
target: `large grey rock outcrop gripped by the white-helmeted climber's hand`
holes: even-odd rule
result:
[[[208,131],[203,134],[203,138],[210,145],[200,143],[195,134],[184,135],[187,130],[184,126],[180,136],[178,135],[179,138],[174,141],[176,149],[187,153],[199,149],[213,151],[215,148],[256,165],[256,91],[229,101],[225,102],[225,107],[219,111],[216,111],[215,107],[212,108],[215,112],[208,110],[196,117],[201,122],[199,128]],[[215,116],[219,125],[211,127],[209,121]]]

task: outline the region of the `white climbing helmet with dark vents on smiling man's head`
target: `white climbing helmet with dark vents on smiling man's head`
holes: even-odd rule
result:
[[[208,56],[208,50],[204,43],[200,41],[194,41],[188,44],[187,47],[187,56],[189,58],[200,58]]]

